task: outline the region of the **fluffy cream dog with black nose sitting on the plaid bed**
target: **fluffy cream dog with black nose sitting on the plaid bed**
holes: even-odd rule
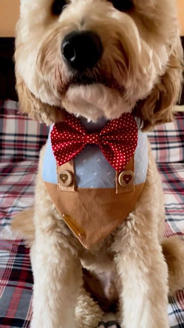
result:
[[[22,112],[55,125],[56,133],[65,117],[68,125],[82,120],[87,128],[102,117],[105,124],[118,126],[121,117],[126,122],[129,117],[133,131],[143,136],[173,119],[183,67],[174,0],[21,0],[20,13],[15,62]],[[135,138],[137,147],[141,141]],[[176,237],[164,238],[164,196],[150,146],[139,196],[123,214],[136,186],[131,184],[124,194],[121,189],[122,219],[102,232],[106,218],[102,227],[94,217],[99,231],[94,233],[92,220],[90,229],[85,228],[88,239],[81,221],[75,226],[73,217],[59,209],[73,209],[74,216],[79,212],[80,220],[80,202],[76,206],[70,200],[77,199],[78,191],[49,189],[43,179],[47,147],[40,153],[34,208],[12,223],[31,247],[31,327],[92,328],[105,311],[117,311],[122,328],[168,328],[168,295],[183,288],[184,246]],[[125,164],[130,165],[128,160]],[[127,170],[125,183],[133,179],[132,167]],[[68,167],[65,171],[58,188],[71,178]],[[63,202],[54,200],[59,192]],[[93,195],[91,213],[101,197]]]

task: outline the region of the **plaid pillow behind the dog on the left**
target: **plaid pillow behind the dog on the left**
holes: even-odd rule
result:
[[[0,100],[1,159],[35,159],[47,140],[49,128],[22,115],[18,103]]]

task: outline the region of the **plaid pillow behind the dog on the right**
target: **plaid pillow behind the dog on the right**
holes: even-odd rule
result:
[[[176,113],[175,121],[157,126],[148,137],[156,162],[184,161],[184,112]]]

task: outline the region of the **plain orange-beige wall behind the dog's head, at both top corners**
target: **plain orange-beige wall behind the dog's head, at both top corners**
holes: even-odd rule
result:
[[[177,3],[179,6],[179,18],[182,31],[181,34],[184,35],[184,0],[177,0]],[[18,14],[19,0],[0,0],[0,37],[14,36],[14,29]]]

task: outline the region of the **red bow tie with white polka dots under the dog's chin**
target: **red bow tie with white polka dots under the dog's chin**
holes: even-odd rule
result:
[[[122,171],[137,146],[137,124],[134,117],[125,113],[109,121],[99,132],[89,132],[81,121],[65,113],[65,120],[57,123],[51,132],[51,143],[58,165],[73,159],[88,145],[97,145],[110,165]]]

